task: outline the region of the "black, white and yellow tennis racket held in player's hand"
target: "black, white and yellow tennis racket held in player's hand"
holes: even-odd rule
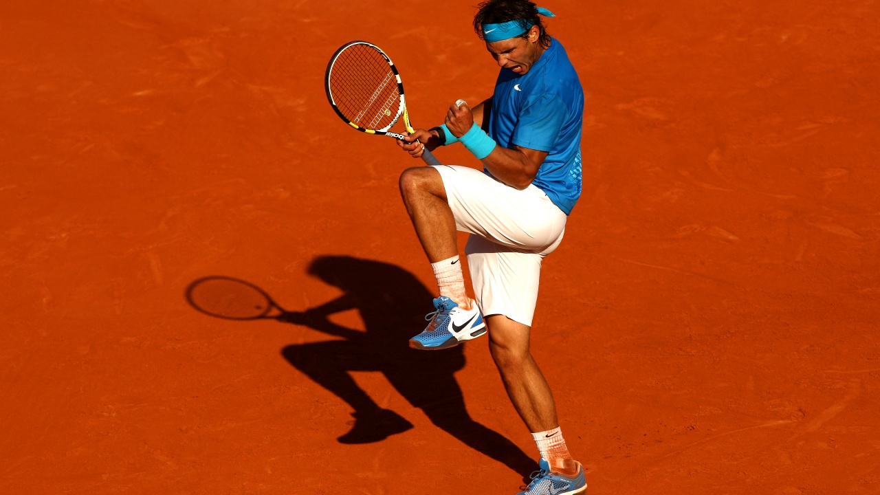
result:
[[[336,115],[351,127],[403,139],[405,135],[389,130],[402,115],[407,132],[414,132],[400,74],[382,48],[366,41],[342,45],[327,64],[324,84]],[[422,159],[428,165],[440,165],[428,148]]]

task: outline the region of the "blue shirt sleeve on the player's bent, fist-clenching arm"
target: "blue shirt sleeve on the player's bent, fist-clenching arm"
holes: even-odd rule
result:
[[[553,150],[568,108],[553,94],[542,93],[526,103],[520,112],[511,143],[538,151]]]

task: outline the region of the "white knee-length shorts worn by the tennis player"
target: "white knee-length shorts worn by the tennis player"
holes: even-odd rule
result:
[[[469,166],[435,166],[459,231],[483,316],[532,326],[541,260],[559,246],[566,214],[535,185],[518,190]]]

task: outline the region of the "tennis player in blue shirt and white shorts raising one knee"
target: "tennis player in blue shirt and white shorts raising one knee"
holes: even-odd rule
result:
[[[400,192],[440,292],[410,345],[444,349],[488,330],[504,387],[541,457],[522,493],[566,495],[586,491],[583,466],[568,453],[529,336],[541,260],[559,246],[581,193],[583,88],[540,16],[554,14],[527,0],[480,4],[473,27],[501,67],[492,97],[474,107],[458,100],[443,125],[398,144],[418,158],[425,147],[461,143],[483,170],[410,168]],[[457,230],[471,234],[465,253],[475,300],[466,293]]]

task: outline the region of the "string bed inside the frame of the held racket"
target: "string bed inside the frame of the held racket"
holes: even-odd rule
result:
[[[353,45],[334,62],[330,91],[342,115],[364,129],[390,128],[400,116],[397,78],[375,49]]]

